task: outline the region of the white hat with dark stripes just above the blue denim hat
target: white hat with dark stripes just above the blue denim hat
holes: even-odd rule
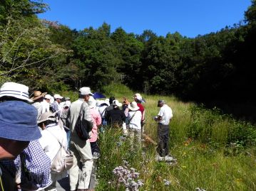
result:
[[[29,87],[16,82],[6,82],[1,86],[0,97],[4,96],[15,97],[27,102],[33,102],[31,99],[29,99]]]

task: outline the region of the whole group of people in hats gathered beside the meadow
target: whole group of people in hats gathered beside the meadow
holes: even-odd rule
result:
[[[40,91],[29,97],[29,87],[24,84],[4,83],[0,89],[0,190],[56,190],[56,181],[67,174],[71,190],[93,188],[93,159],[100,155],[99,126],[127,126],[130,139],[141,142],[145,100],[140,94],[133,99],[128,102],[123,97],[123,103],[115,97],[96,100],[90,87],[81,87],[78,99],[71,103],[68,97]],[[165,157],[173,114],[163,100],[158,107],[158,153]],[[76,133],[78,117],[92,129],[86,141]],[[73,154],[73,166],[68,172],[52,173],[51,163],[60,144]]]

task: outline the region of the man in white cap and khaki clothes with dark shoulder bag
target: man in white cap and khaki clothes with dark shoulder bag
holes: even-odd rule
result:
[[[78,191],[87,190],[90,183],[93,168],[93,155],[91,153],[90,141],[84,141],[78,137],[75,125],[81,110],[83,119],[88,121],[91,127],[93,126],[93,119],[91,118],[91,112],[88,106],[88,100],[91,95],[93,94],[91,93],[90,87],[81,87],[78,92],[78,100],[71,104],[68,111],[68,120],[70,121],[69,129],[71,130],[70,150],[75,156],[73,167],[69,170],[71,190],[76,190],[76,185],[78,185]],[[78,163],[80,160],[83,163],[83,167],[81,176],[79,177]]]

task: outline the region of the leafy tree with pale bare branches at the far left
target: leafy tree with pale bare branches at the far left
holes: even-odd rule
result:
[[[46,87],[61,67],[66,50],[49,40],[49,30],[35,13],[46,9],[32,1],[1,1],[0,81],[14,80],[29,87]],[[52,73],[53,72],[53,73]],[[35,83],[36,82],[36,83]]]

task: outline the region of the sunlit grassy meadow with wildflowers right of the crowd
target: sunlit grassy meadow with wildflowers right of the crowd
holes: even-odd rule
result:
[[[119,102],[123,97],[132,101],[135,93],[118,84],[105,87],[105,92]],[[153,116],[159,111],[158,99],[173,109],[169,143],[177,163],[156,161],[153,141],[145,139],[143,148],[139,143],[131,146],[121,129],[106,129],[99,134],[96,190],[256,190],[255,126],[236,121],[216,108],[205,109],[175,97],[142,96],[146,100],[144,133],[155,142]],[[129,171],[118,177],[113,173],[117,167]],[[137,176],[127,175],[135,171]],[[136,186],[138,180],[143,184]]]

